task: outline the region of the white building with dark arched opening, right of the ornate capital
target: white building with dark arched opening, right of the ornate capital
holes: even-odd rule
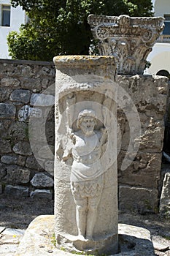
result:
[[[170,74],[170,0],[152,0],[155,16],[165,18],[165,28],[161,37],[155,43],[147,61],[151,66],[145,74],[169,75]]]

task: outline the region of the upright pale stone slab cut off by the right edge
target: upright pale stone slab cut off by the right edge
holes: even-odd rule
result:
[[[163,179],[159,211],[165,217],[170,217],[170,173],[166,173]]]

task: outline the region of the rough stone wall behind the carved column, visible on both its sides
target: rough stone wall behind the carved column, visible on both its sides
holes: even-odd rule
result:
[[[117,83],[131,96],[142,124],[139,151],[131,165],[121,170],[129,143],[129,125],[123,110],[118,110],[122,134],[118,155],[119,206],[125,211],[157,211],[168,95],[166,78],[118,75]],[[47,108],[54,102],[54,85],[53,62],[0,60],[0,193],[53,197],[54,108],[50,113]],[[46,94],[47,100],[39,98],[40,94]],[[37,127],[45,125],[45,131],[42,129],[38,135],[28,133],[30,115]],[[36,155],[39,163],[29,137],[40,145]]]

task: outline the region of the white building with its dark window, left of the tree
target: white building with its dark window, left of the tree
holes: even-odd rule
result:
[[[22,23],[26,23],[22,8],[13,8],[10,0],[0,0],[0,59],[10,59],[7,35],[10,31],[19,31]]]

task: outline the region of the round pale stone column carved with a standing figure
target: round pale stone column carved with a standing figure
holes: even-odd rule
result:
[[[117,253],[115,58],[54,62],[55,237],[68,251]]]

